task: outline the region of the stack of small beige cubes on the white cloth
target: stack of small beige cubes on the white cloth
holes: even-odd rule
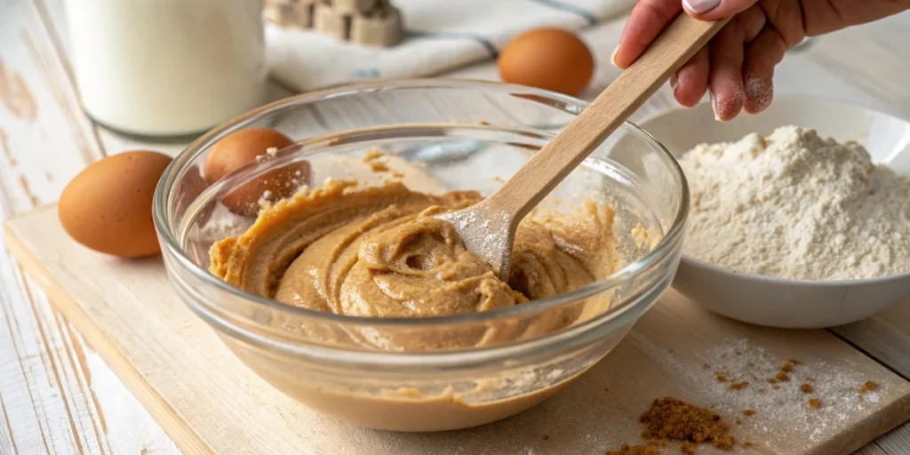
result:
[[[359,45],[401,41],[401,13],[389,0],[270,0],[278,24],[311,28]]]

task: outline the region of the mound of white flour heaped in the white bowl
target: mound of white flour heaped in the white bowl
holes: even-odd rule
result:
[[[778,128],[680,159],[685,254],[736,271],[833,280],[910,271],[910,182],[863,147]]]

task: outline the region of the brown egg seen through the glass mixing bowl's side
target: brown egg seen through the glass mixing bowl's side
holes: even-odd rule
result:
[[[203,174],[209,184],[247,165],[270,147],[278,150],[294,144],[288,136],[270,128],[241,129],[219,140],[208,152],[203,164]],[[221,197],[221,202],[239,215],[254,217],[259,211],[259,200],[275,201],[297,191],[308,181],[307,163],[294,163],[273,169],[263,176],[234,188]]]

